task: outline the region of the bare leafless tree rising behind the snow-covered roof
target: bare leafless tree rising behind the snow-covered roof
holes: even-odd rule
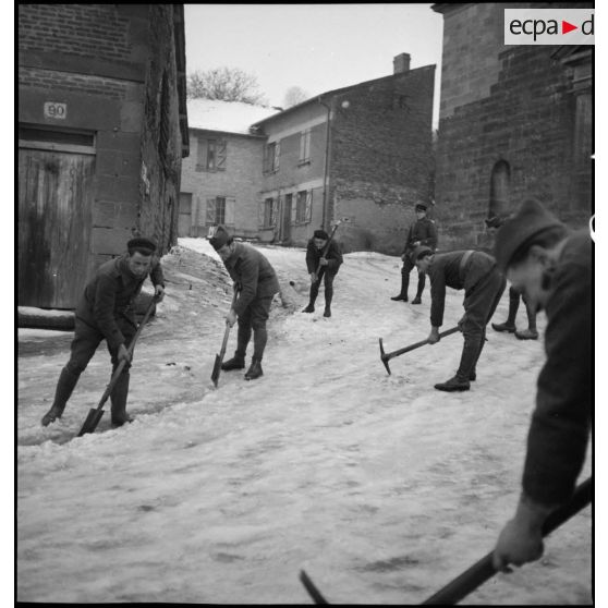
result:
[[[257,78],[239,68],[197,70],[189,74],[186,95],[189,99],[221,99],[266,105],[266,99],[258,90]]]

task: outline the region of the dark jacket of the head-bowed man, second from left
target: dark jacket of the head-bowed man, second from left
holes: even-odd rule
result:
[[[256,297],[272,297],[279,281],[270,263],[254,247],[235,242],[234,253],[223,263],[230,278],[241,287],[234,305],[241,316]]]

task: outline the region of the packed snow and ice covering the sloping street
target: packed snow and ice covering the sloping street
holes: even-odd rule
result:
[[[125,427],[110,429],[108,403],[76,437],[110,377],[104,346],[42,427],[72,333],[19,330],[17,600],[312,604],[304,569],[333,604],[419,604],[493,549],[520,493],[543,340],[488,328],[472,389],[442,393],[461,335],[391,358],[391,375],[380,361],[379,338],[391,352],[429,331],[428,284],[419,306],[390,300],[398,257],[346,254],[324,318],[323,288],[300,312],[304,250],[256,246],[281,284],[264,376],[222,372],[214,387],[232,285],[206,240],[180,239],[135,349]],[[448,290],[443,329],[462,297]],[[494,320],[507,307],[506,292]],[[591,604],[591,526],[586,508],[542,560],[465,603]]]

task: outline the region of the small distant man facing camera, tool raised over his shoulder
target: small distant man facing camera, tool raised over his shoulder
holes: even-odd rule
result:
[[[303,313],[315,312],[315,301],[319,294],[321,280],[325,287],[325,311],[324,317],[331,316],[331,300],[333,299],[333,279],[338,275],[338,270],[343,262],[340,245],[331,240],[329,247],[326,250],[329,235],[325,230],[315,230],[313,238],[306,244],[306,268],[311,276],[311,293],[308,296],[308,305],[302,311]],[[317,275],[318,268],[318,275]]]

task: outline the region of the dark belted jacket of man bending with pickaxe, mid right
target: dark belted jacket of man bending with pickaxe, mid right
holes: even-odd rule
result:
[[[496,269],[496,259],[484,252],[473,252],[462,265],[466,251],[435,254],[428,268],[430,278],[430,325],[441,327],[446,306],[446,288],[464,289],[464,297]]]

